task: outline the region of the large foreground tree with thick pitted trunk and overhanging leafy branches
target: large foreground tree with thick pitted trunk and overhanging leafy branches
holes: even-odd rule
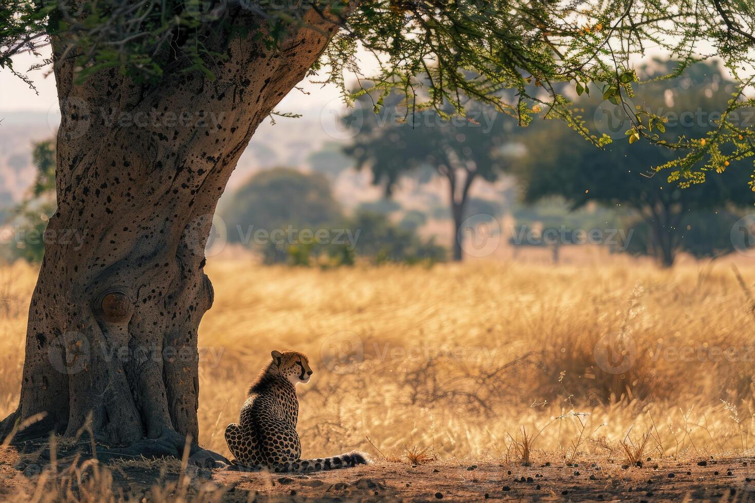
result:
[[[601,143],[553,82],[621,97],[632,86],[629,55],[647,42],[688,54],[707,38],[741,63],[753,8],[712,1],[4,2],[0,66],[27,78],[14,55],[50,60],[62,117],[57,211],[29,307],[20,403],[0,433],[39,414],[17,439],[88,425],[104,443],[177,454],[197,438],[211,215],[257,125],[310,70],[326,69],[348,100],[344,69],[356,69],[362,47],[380,56],[377,88],[398,87],[412,107],[463,113],[473,98],[525,121],[544,103]],[[498,90],[510,88],[507,102]],[[72,232],[81,247],[66,239]],[[144,357],[145,348],[162,355]]]

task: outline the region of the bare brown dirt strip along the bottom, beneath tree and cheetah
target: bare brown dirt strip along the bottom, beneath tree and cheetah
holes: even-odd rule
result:
[[[605,456],[585,456],[575,464],[544,458],[531,466],[489,460],[412,466],[380,460],[296,475],[205,468],[182,472],[176,460],[112,462],[103,464],[112,474],[110,489],[102,480],[98,485],[105,492],[100,496],[109,492],[116,499],[122,495],[141,501],[755,501],[755,456],[651,459],[631,468],[621,463]],[[4,455],[0,501],[21,501],[22,495],[27,501],[54,501],[34,497],[48,468]],[[180,488],[182,473],[188,477]]]

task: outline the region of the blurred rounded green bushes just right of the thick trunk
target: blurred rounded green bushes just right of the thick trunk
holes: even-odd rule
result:
[[[358,256],[378,263],[444,260],[445,248],[433,239],[421,238],[417,226],[390,221],[387,213],[396,209],[399,204],[383,199],[365,204],[347,217],[325,175],[277,167],[252,176],[223,203],[220,214],[228,240],[248,245],[266,263],[353,265]],[[273,238],[276,229],[281,238]],[[303,229],[313,233],[325,229],[333,239],[304,242],[299,238]],[[260,230],[264,235],[257,242],[255,232]],[[353,243],[348,241],[350,237]]]

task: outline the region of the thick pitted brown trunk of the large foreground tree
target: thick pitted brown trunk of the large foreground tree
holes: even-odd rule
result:
[[[234,19],[258,22],[242,10]],[[199,437],[197,328],[213,299],[205,243],[252,133],[336,29],[313,11],[305,21],[279,51],[254,29],[213,35],[208,50],[227,55],[214,80],[176,61],[151,87],[115,70],[75,83],[53,41],[57,213],[29,308],[20,404],[0,433],[43,413],[20,438],[72,435],[88,418],[108,444],[180,448],[179,436]]]

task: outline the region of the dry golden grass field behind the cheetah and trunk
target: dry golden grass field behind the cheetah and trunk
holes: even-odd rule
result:
[[[223,430],[238,419],[249,382],[271,350],[290,348],[315,371],[299,388],[306,457],[356,448],[395,459],[402,446],[419,446],[442,459],[529,462],[550,450],[569,460],[620,454],[631,429],[653,431],[654,455],[749,448],[755,318],[734,272],[724,263],[631,264],[321,271],[210,262],[200,443],[229,455]],[[752,290],[755,265],[739,271]],[[35,270],[5,266],[0,278],[5,416],[18,400]],[[602,370],[596,354],[615,357],[622,344],[633,365]],[[692,348],[692,358],[668,348]],[[524,439],[507,434],[521,428],[542,429],[526,453]]]

